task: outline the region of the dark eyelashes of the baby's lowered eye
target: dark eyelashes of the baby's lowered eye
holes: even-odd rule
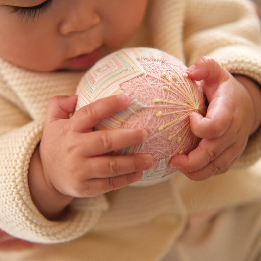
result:
[[[30,7],[10,6],[12,8],[10,13],[18,13],[22,17],[22,19],[26,17],[27,21],[33,21],[36,16],[39,16],[40,14],[46,12],[51,4],[52,0],[47,0],[39,5]]]

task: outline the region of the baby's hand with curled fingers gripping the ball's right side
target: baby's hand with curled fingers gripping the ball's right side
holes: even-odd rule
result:
[[[188,155],[174,156],[170,164],[192,180],[204,180],[226,172],[244,151],[249,136],[260,124],[260,117],[255,114],[261,111],[254,101],[261,94],[253,86],[247,89],[209,57],[197,60],[187,73],[191,79],[202,80],[209,106],[205,117],[190,115],[192,132],[202,138],[198,147]]]

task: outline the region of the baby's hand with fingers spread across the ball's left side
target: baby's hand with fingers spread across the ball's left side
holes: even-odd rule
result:
[[[147,139],[143,129],[92,131],[102,119],[126,109],[129,98],[115,95],[74,111],[77,96],[51,99],[40,143],[44,179],[61,194],[96,195],[127,186],[151,168],[151,155],[109,156],[106,153]]]

